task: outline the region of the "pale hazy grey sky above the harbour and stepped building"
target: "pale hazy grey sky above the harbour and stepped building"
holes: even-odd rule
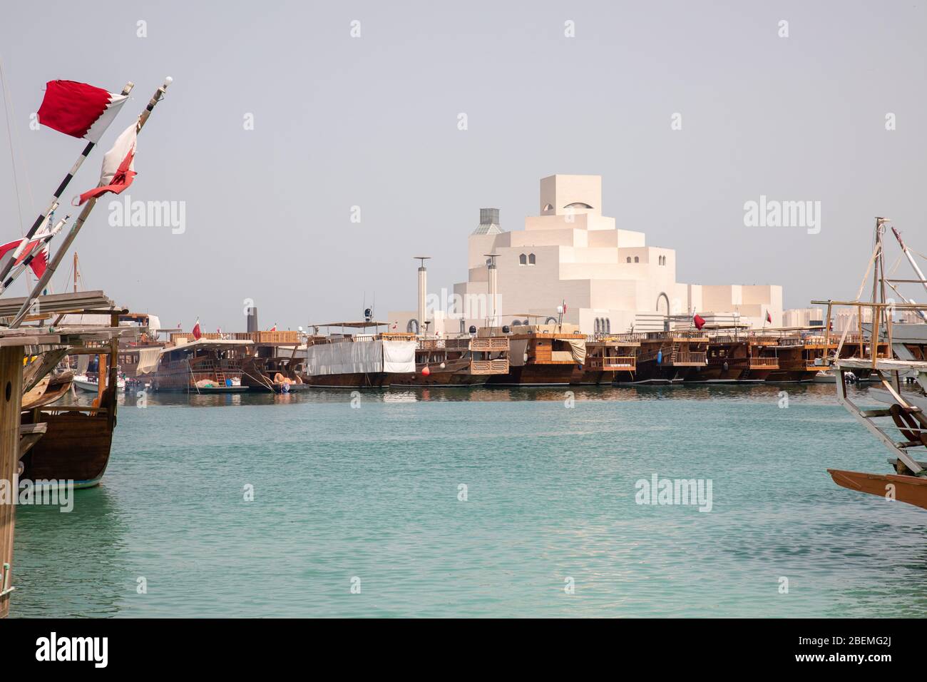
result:
[[[70,201],[174,79],[127,193],[184,201],[185,232],[112,227],[100,201],[77,240],[87,288],[165,325],[244,328],[250,298],[261,327],[295,328],[356,318],[364,296],[378,316],[412,310],[419,253],[433,257],[431,290],[465,280],[480,207],[520,229],[554,173],[601,174],[603,212],[676,249],[679,281],[781,284],[786,307],[851,297],[873,216],[927,252],[925,32],[922,0],[70,0],[6,3],[0,56],[27,226],[83,148],[30,130],[44,83],[135,83]],[[5,126],[0,137],[6,240],[21,227]],[[745,227],[761,194],[819,200],[820,233]]]

